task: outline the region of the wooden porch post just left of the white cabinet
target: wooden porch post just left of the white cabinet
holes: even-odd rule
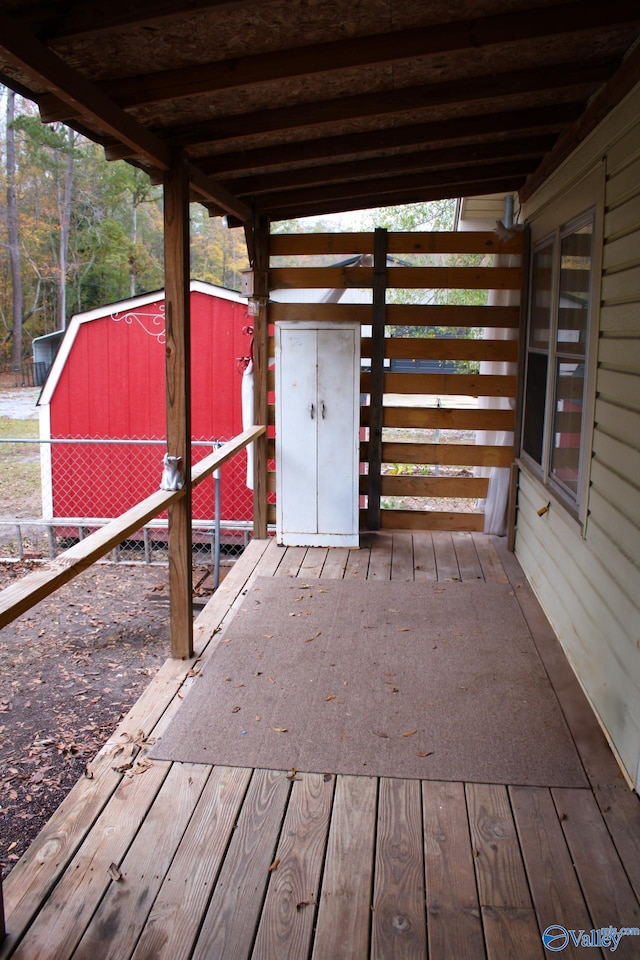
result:
[[[266,275],[269,269],[269,220],[256,217],[253,224],[253,269]],[[260,286],[259,291],[263,291]],[[253,375],[254,375],[254,423],[268,423],[268,373],[269,373],[269,307],[267,297],[253,300]],[[266,539],[267,532],[267,433],[255,441],[253,452],[253,536]]]

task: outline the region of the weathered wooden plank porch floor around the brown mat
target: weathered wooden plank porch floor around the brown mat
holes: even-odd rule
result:
[[[250,544],[198,618],[200,659],[165,663],[12,870],[0,958],[528,960],[550,956],[551,924],[640,927],[638,797],[517,561],[480,534],[364,541]],[[151,763],[145,742],[256,575],[510,581],[590,789]],[[640,937],[615,956],[639,957]]]

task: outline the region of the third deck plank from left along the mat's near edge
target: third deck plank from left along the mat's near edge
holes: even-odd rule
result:
[[[211,772],[133,960],[190,957],[250,776],[251,770],[243,767],[215,767]]]

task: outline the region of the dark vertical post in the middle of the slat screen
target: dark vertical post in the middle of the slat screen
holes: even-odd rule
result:
[[[387,231],[378,228],[373,238],[373,310],[371,329],[371,384],[369,418],[369,486],[367,529],[380,529],[382,469],[382,403],[384,394],[384,327],[387,293]]]

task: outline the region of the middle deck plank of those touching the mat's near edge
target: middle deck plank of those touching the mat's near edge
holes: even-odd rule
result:
[[[377,781],[336,783],[312,960],[369,955]]]

